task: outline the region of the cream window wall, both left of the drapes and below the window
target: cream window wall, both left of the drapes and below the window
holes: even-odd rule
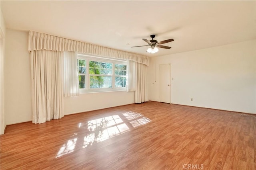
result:
[[[5,57],[6,124],[32,121],[28,32],[7,29]],[[102,92],[64,98],[64,114],[134,103],[134,92]]]

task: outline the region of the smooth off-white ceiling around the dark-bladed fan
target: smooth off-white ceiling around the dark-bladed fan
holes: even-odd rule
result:
[[[3,1],[6,27],[148,56],[226,45],[256,34],[256,1]],[[146,53],[142,38],[174,39]],[[130,45],[127,45],[130,44]]]

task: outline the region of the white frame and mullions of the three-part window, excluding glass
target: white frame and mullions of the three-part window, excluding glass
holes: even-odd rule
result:
[[[94,55],[86,55],[82,53],[77,54],[77,60],[85,60],[86,61],[86,84],[84,89],[79,88],[80,93],[94,93],[94,92],[114,92],[114,91],[126,91],[126,87],[115,87],[115,64],[126,65],[126,86],[127,86],[127,62],[122,59],[110,59],[105,57],[99,57]],[[90,61],[98,61],[104,63],[112,63],[112,75],[102,75],[102,74],[90,74],[89,72],[89,63]],[[77,65],[78,67],[78,65]],[[78,68],[77,68],[78,70]],[[90,76],[112,76],[112,87],[111,88],[90,88]],[[79,76],[79,73],[78,73]],[[79,82],[78,82],[79,85]]]

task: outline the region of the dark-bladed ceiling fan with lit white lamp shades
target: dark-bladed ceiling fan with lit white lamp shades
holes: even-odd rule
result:
[[[154,39],[154,37],[156,37],[156,35],[150,35],[150,37],[152,38],[152,40],[147,40],[147,39],[142,38],[142,40],[145,41],[146,43],[148,43],[148,45],[141,45],[141,46],[134,46],[134,47],[150,46],[148,48],[147,52],[154,54],[154,53],[158,52],[158,48],[163,48],[163,49],[170,49],[171,48],[171,47],[168,47],[168,46],[165,46],[165,45],[160,45],[160,44],[169,43],[171,41],[174,41],[174,39],[166,39],[164,41],[158,42]]]

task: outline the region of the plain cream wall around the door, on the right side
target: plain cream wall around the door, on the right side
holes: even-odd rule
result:
[[[172,104],[256,113],[255,45],[254,39],[151,58],[150,100],[159,101],[159,65],[170,63]]]

